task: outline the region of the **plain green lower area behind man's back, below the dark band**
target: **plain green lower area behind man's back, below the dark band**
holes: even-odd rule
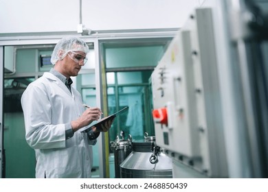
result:
[[[4,114],[5,178],[34,178],[35,155],[25,141],[22,112]]]

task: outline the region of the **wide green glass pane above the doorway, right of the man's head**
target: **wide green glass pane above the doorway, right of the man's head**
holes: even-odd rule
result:
[[[163,46],[105,49],[107,68],[154,67],[164,54]]]

